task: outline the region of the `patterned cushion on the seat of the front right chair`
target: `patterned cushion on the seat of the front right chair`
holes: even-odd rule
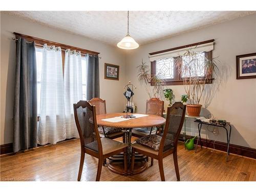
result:
[[[147,135],[145,137],[141,137],[139,139],[136,139],[135,141],[139,144],[145,145],[147,147],[153,148],[153,150],[158,151],[160,142],[162,137],[159,135]],[[164,151],[168,150],[169,148],[173,147],[174,141],[165,139],[164,142]]]

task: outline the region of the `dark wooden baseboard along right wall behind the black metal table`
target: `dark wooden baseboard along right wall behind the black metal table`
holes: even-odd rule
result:
[[[184,135],[181,135],[180,141],[184,141],[183,138]],[[191,139],[194,136],[186,135],[186,139]],[[202,145],[207,148],[215,148],[216,150],[227,152],[227,143],[220,142],[220,141],[214,141],[209,139],[202,138]],[[195,144],[197,143],[197,139],[195,139]],[[200,140],[198,141],[198,145],[200,146]],[[229,144],[229,152],[236,155],[241,155],[245,157],[250,157],[253,159],[256,159],[256,149],[235,145],[235,144]]]

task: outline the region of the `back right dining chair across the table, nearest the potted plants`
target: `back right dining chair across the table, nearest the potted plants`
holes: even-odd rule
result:
[[[146,101],[146,114],[147,115],[158,115],[163,116],[163,105],[164,101],[161,101],[159,98],[151,98]],[[156,134],[157,131],[160,133],[160,128],[157,127],[156,131],[153,131],[153,127],[150,128],[138,128],[132,130],[132,136],[134,137],[144,137],[151,134]]]

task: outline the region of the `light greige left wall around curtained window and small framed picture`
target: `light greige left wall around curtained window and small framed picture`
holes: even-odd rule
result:
[[[100,52],[100,97],[106,100],[107,112],[123,111],[125,81],[124,53],[115,47],[82,36],[42,26],[1,12],[1,143],[12,142],[15,75],[15,41],[13,32],[23,33],[70,46]],[[120,66],[119,81],[104,79],[104,63]]]

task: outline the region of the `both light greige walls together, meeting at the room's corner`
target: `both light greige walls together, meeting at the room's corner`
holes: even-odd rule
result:
[[[123,86],[131,80],[135,86],[134,101],[138,112],[145,112],[146,92],[137,80],[136,66],[141,58],[147,61],[148,53],[191,44],[198,41],[215,39],[213,56],[219,56],[222,65],[213,84],[207,85],[207,92],[201,102],[202,114],[212,113],[219,119],[230,121],[232,126],[231,143],[256,148],[256,79],[236,79],[236,55],[256,52],[256,14],[235,19],[223,24],[183,33],[164,40],[140,46],[136,50],[123,52],[117,48],[88,38],[66,33],[29,22],[1,12],[1,143],[12,142],[13,93],[15,74],[15,43],[13,32],[44,38],[63,44],[100,52],[100,97],[107,101],[108,112],[123,110],[125,102]],[[126,55],[126,57],[125,57]],[[120,66],[119,81],[104,79],[104,62]],[[171,86],[178,101],[184,94],[182,86]],[[209,91],[212,88],[212,92]],[[206,100],[208,98],[208,102]],[[208,104],[205,104],[208,103]],[[165,102],[166,109],[167,102]],[[187,134],[197,135],[197,126],[187,120]],[[202,137],[226,141],[223,130],[218,137],[202,131]]]

